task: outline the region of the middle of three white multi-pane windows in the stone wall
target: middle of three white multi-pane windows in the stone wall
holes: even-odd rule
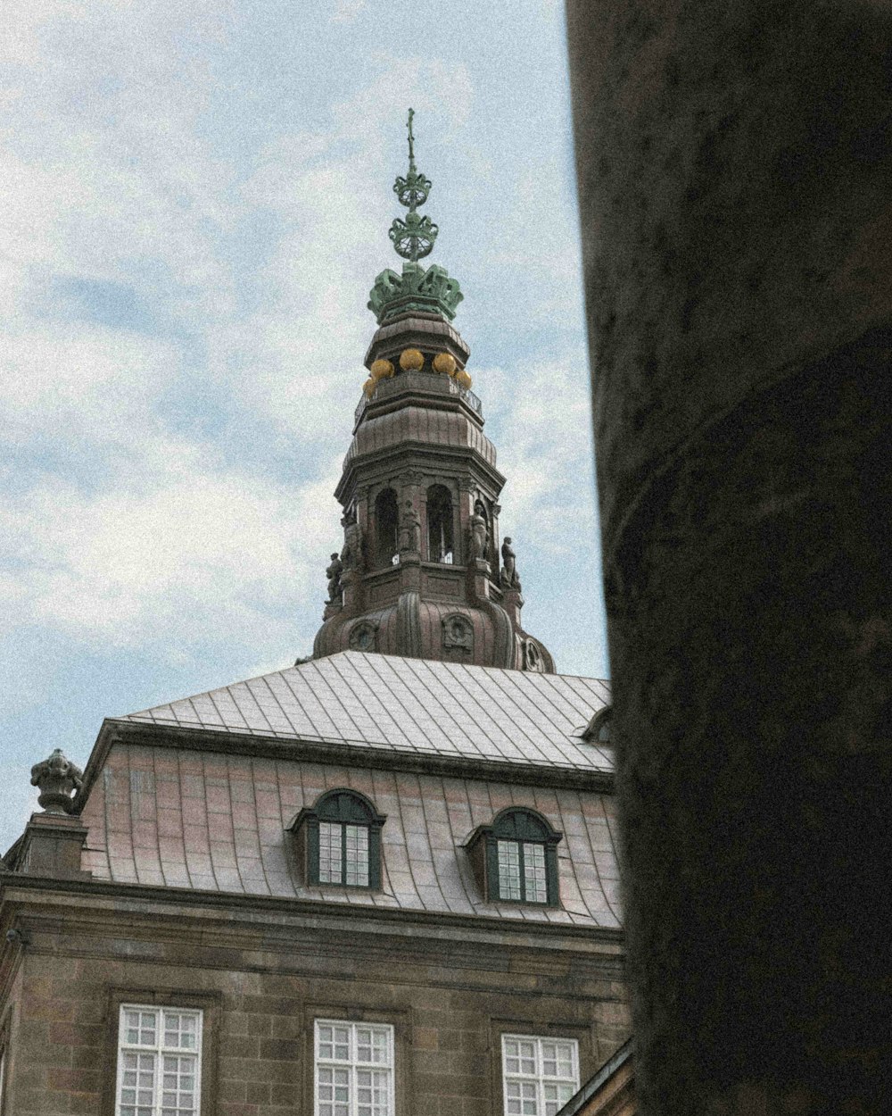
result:
[[[316,1021],[314,1116],[394,1116],[394,1028]]]

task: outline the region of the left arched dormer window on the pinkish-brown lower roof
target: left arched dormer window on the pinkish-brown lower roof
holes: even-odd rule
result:
[[[380,888],[386,820],[356,790],[329,790],[312,809],[304,807],[289,829],[307,883]]]

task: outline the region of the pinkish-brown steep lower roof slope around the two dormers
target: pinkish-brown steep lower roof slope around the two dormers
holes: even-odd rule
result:
[[[307,886],[285,827],[324,790],[361,791],[387,815],[381,891]],[[563,834],[561,906],[486,899],[462,847],[506,806],[530,806]],[[227,895],[326,899],[357,908],[618,927],[610,795],[295,758],[117,743],[81,815],[83,866],[96,879]]]

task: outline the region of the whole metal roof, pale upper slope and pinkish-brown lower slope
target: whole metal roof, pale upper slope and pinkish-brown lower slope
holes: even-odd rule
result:
[[[613,799],[594,789],[603,780],[590,790],[585,780],[573,788],[517,778],[518,764],[610,770],[608,750],[580,739],[608,695],[607,683],[591,679],[345,652],[116,719],[110,727],[209,735],[191,747],[192,735],[174,743],[151,731],[113,734],[83,804],[83,866],[120,884],[618,927]],[[216,734],[230,738],[219,750],[209,748]],[[293,752],[264,752],[260,738],[273,737],[293,741]],[[309,747],[319,743],[351,745],[349,762],[337,747],[330,760]],[[437,771],[376,764],[382,751],[411,757],[409,768],[419,754],[449,757],[454,773],[442,762]],[[463,769],[479,759],[495,763],[483,775],[479,764]],[[308,886],[297,864],[288,827],[323,791],[342,787],[387,816],[380,892]],[[463,846],[508,806],[539,810],[563,834],[560,907],[482,895]]]

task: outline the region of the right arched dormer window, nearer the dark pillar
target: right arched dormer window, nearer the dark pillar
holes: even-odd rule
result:
[[[488,899],[558,906],[558,844],[563,834],[535,810],[510,807],[465,845]]]

